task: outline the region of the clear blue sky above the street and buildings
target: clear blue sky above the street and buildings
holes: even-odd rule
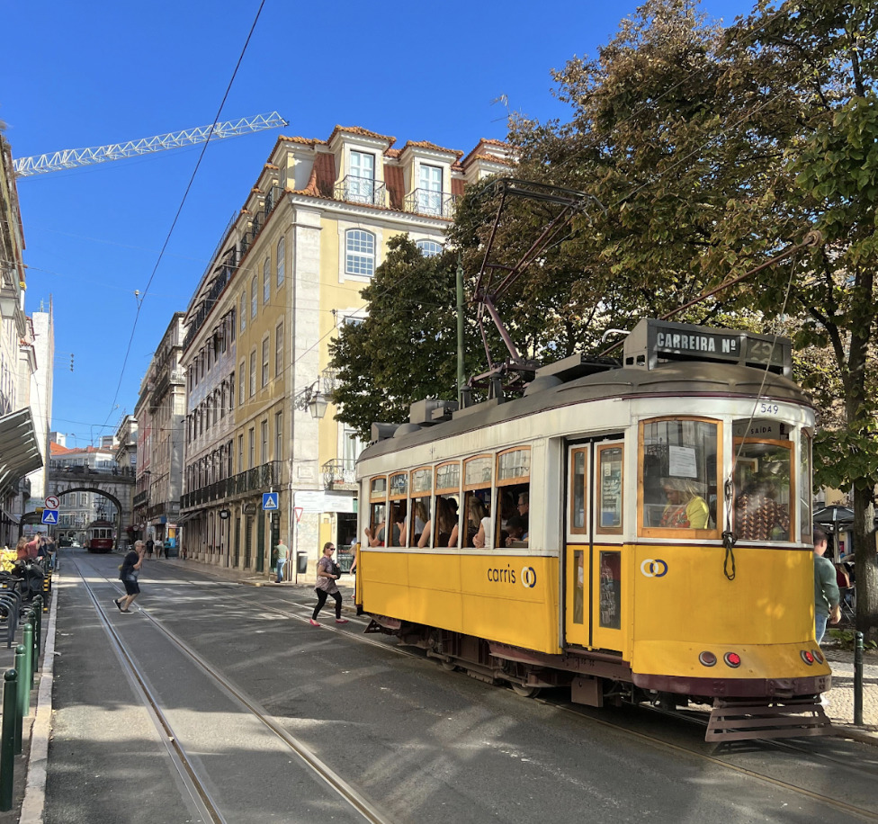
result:
[[[336,123],[468,152],[506,137],[511,109],[567,111],[550,71],[594,57],[636,2],[334,4],[266,0],[220,121],[280,112],[290,125],[211,144],[165,243],[200,147],[19,180],[26,309],[53,300],[52,428],[68,446],[112,434],[172,313],[281,133],[327,139]],[[751,3],[704,0],[727,24]],[[0,120],[14,157],[102,146],[211,123],[260,0],[148,5],[4,4]],[[143,299],[127,363],[125,352]],[[70,354],[74,372],[69,371]]]

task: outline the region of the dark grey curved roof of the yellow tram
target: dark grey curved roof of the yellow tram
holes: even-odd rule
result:
[[[654,369],[621,367],[587,375],[498,403],[488,400],[454,413],[452,420],[405,429],[372,443],[361,458],[375,458],[410,446],[465,434],[550,409],[589,401],[640,396],[771,398],[811,407],[793,381],[765,369],[730,363],[663,363]],[[406,426],[402,424],[400,426]]]

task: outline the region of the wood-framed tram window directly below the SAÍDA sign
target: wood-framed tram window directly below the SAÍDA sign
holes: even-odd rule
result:
[[[792,541],[793,443],[736,438],[735,533],[741,541]]]

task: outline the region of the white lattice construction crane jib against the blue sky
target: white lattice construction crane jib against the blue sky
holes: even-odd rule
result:
[[[199,126],[197,129],[174,131],[160,134],[153,138],[130,140],[128,143],[112,143],[110,146],[93,148],[67,148],[49,155],[35,157],[19,157],[13,160],[13,169],[19,177],[44,175],[46,172],[59,172],[61,169],[73,169],[76,166],[89,166],[93,163],[105,163],[107,160],[121,160],[123,157],[148,155],[151,152],[163,152],[167,148],[194,146],[206,140],[235,138],[264,129],[279,129],[290,124],[280,114],[256,114],[238,121],[212,123],[210,126]]]

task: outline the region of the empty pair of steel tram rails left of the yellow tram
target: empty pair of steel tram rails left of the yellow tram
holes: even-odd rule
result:
[[[95,613],[98,615],[103,630],[106,631],[111,640],[112,649],[120,658],[122,668],[130,677],[136,693],[139,695],[141,702],[147,709],[151,720],[156,725],[159,737],[171,757],[175,770],[184,782],[184,786],[187,788],[195,808],[199,814],[202,815],[203,820],[216,822],[216,824],[226,824],[228,819],[224,817],[219,803],[211,796],[208,789],[209,782],[205,777],[200,775],[199,769],[195,765],[193,758],[187,754],[184,744],[175,734],[157,696],[149,688],[147,676],[143,673],[141,667],[139,667],[134,658],[131,657],[124,640],[121,639],[120,634],[107,619],[107,613],[98,596],[95,594],[94,587],[91,586],[88,578],[81,569],[81,559],[71,560],[76,568],[76,573],[85,587],[87,595],[94,605]],[[89,565],[89,567],[92,577],[101,578],[112,587],[116,587],[116,581],[107,578],[102,571],[95,569],[94,566]],[[318,758],[317,755],[300,739],[292,736],[276,721],[273,721],[273,717],[265,712],[264,708],[261,707],[259,703],[255,702],[243,690],[232,684],[228,678],[223,676],[223,674],[213,667],[209,661],[202,658],[198,652],[177,636],[175,632],[170,631],[163,622],[149,614],[148,610],[140,607],[138,611],[155,629],[157,629],[157,631],[161,632],[167,640],[173,643],[176,649],[184,654],[185,658],[192,661],[193,664],[200,668],[205,675],[209,676],[222,692],[243,706],[246,711],[259,721],[267,730],[272,732],[273,735],[291,751],[291,753],[299,757],[301,763],[304,764],[311,773],[318,776],[327,787],[335,792],[364,821],[368,821],[370,824],[393,824],[393,820],[391,820],[386,813],[375,807],[372,802],[359,793],[352,784],[346,782],[341,775],[338,775],[324,761]]]

